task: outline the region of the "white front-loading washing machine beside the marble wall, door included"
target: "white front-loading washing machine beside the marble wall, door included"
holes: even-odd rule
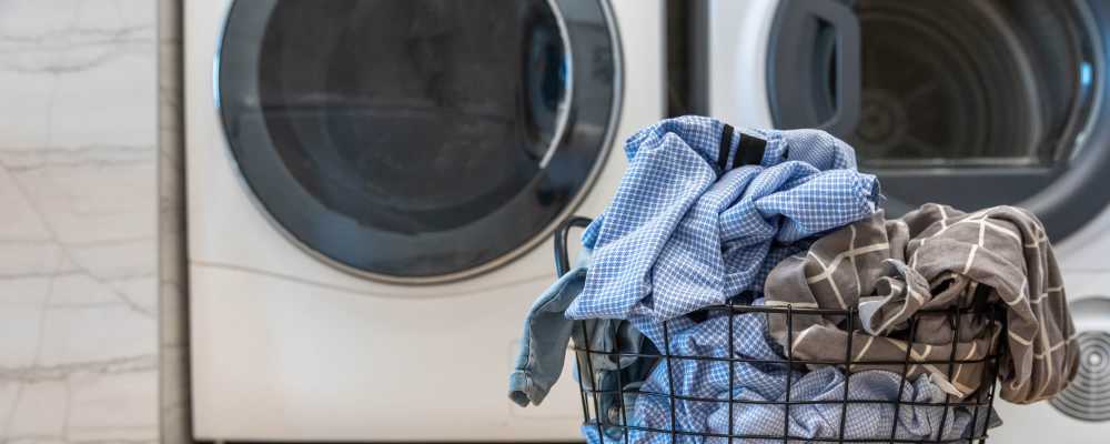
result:
[[[195,437],[578,438],[573,381],[522,410],[507,375],[553,225],[601,212],[614,145],[663,117],[663,16],[190,1]]]

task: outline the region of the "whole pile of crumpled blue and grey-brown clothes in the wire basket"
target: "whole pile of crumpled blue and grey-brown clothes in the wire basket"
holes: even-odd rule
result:
[[[583,426],[592,443],[959,438],[1000,423],[961,405],[986,398],[987,356],[1001,354],[1000,394],[1016,403],[1051,397],[1076,372],[1060,272],[1026,210],[926,204],[888,220],[877,178],[816,130],[685,117],[642,130],[625,154],[577,265],[528,313],[509,376],[513,401],[539,404],[571,340],[597,352],[576,363],[601,393],[601,424]],[[705,310],[725,303],[858,317]],[[972,306],[1005,323],[915,316]],[[935,364],[951,356],[963,363]]]

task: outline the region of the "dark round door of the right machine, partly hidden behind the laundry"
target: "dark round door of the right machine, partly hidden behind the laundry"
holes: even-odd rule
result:
[[[1061,239],[1110,202],[1104,1],[784,0],[776,125],[824,127],[889,213],[1021,204]]]

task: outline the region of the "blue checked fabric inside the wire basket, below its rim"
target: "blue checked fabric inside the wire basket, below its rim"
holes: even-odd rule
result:
[[[757,304],[760,303],[757,301]],[[733,316],[733,349],[735,357],[750,360],[783,360],[777,345],[767,333],[766,314],[748,313]],[[722,312],[702,323],[693,323],[688,317],[676,320],[680,333],[672,336],[674,356],[728,356],[728,315]],[[725,443],[726,438],[697,436],[697,433],[728,433],[729,364],[723,361],[689,360],[672,357],[675,393],[679,396],[722,400],[689,401],[675,400],[675,430],[690,434],[677,434],[678,443]],[[670,381],[667,376],[666,360],[660,360],[640,387],[635,408],[626,412],[628,443],[670,443]],[[813,372],[789,369],[783,363],[733,363],[733,398],[740,401],[785,401],[787,377],[791,380],[791,401],[839,401],[844,400],[845,375],[835,366],[819,367]],[[901,377],[887,371],[865,371],[850,377],[849,400],[894,401],[898,398]],[[657,393],[656,395],[648,393]],[[928,379],[907,381],[901,400],[942,404],[945,393]],[[799,438],[837,438],[840,433],[841,404],[794,404],[789,410],[790,435]],[[767,440],[744,440],[744,442],[783,442],[786,408],[776,404],[734,404],[733,433],[740,435],[777,436]],[[944,416],[945,438],[965,436],[972,413],[965,407],[942,405],[901,405],[898,408],[899,440],[935,440],[941,431]],[[996,416],[997,417],[997,416]],[[987,421],[987,408],[977,415],[980,426]],[[887,440],[895,424],[895,406],[880,403],[849,404],[845,438]],[[615,422],[609,420],[608,424]],[[637,430],[650,428],[652,431]],[[583,425],[583,433],[591,443],[599,443],[596,425]],[[664,432],[658,432],[664,431]],[[605,442],[624,442],[622,427],[602,428]]]

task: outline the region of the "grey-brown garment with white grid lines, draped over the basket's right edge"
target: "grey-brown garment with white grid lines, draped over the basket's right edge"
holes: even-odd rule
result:
[[[920,316],[911,361],[948,360],[953,342],[957,361],[981,360],[992,352],[996,335],[1006,334],[1008,347],[999,374],[1002,398],[1031,403],[1063,390],[1078,365],[1074,327],[1045,229],[1023,209],[996,206],[969,214],[926,204],[901,219],[886,220],[877,213],[821,238],[805,255],[781,262],[764,291],[768,305],[858,304],[850,370],[901,372],[901,364],[855,363],[902,361],[912,314],[970,306],[980,285],[987,286],[989,302],[1005,304],[1008,332],[980,316],[960,316],[959,329],[942,315]],[[848,345],[845,324],[844,316],[794,316],[794,356],[842,362]],[[786,346],[786,320],[774,316],[770,330]],[[979,363],[953,369],[911,365],[909,372],[931,374],[942,390],[959,397],[971,394],[983,377]]]

